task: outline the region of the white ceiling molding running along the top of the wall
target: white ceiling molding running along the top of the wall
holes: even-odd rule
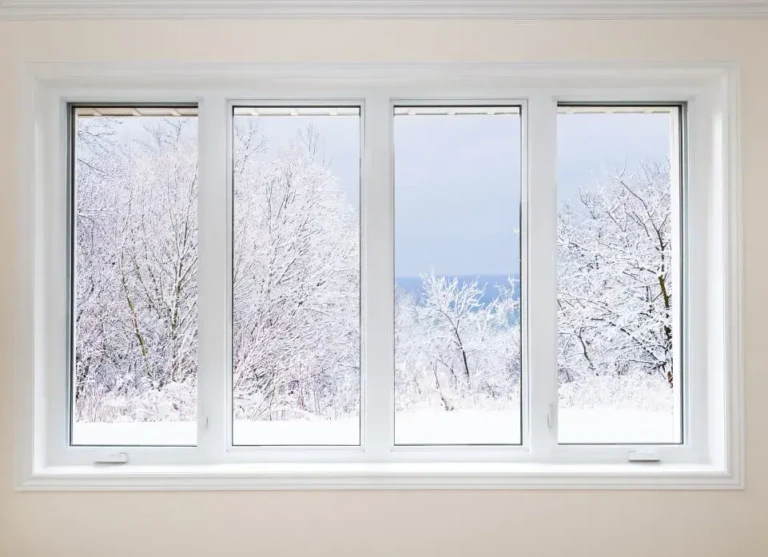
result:
[[[0,20],[766,17],[768,0],[0,0]]]

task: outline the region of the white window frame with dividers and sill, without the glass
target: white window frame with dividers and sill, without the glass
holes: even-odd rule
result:
[[[741,186],[730,64],[30,63],[21,72],[15,298],[19,489],[741,488]],[[689,281],[685,442],[557,444],[558,102],[686,103]],[[68,445],[66,105],[199,104],[196,447]],[[394,446],[392,124],[412,102],[514,104],[523,115],[523,444]],[[232,447],[231,107],[361,106],[359,447]],[[228,178],[229,176],[229,178]],[[532,185],[535,184],[535,187]],[[530,218],[536,215],[536,218]],[[535,311],[531,308],[535,307]],[[549,339],[544,342],[544,339]],[[696,373],[689,371],[696,370]],[[374,394],[375,393],[375,394]],[[548,425],[549,424],[549,425]],[[660,463],[628,462],[647,448]],[[94,464],[127,453],[120,466]]]

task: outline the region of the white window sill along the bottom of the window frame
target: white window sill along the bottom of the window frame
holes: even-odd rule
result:
[[[46,467],[20,491],[314,489],[743,489],[692,464],[347,463]]]

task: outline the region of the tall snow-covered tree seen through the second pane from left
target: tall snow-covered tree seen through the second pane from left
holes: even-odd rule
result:
[[[236,128],[236,415],[337,417],[359,404],[357,217],[310,130],[273,157]]]

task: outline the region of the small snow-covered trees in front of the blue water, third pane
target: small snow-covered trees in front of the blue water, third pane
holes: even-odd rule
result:
[[[418,299],[396,291],[395,361],[400,409],[504,407],[516,402],[520,328],[513,284],[497,287],[422,275]]]

